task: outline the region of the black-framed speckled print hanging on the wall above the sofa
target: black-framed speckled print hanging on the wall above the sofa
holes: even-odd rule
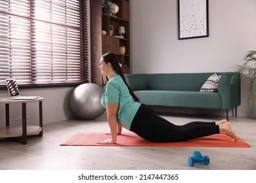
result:
[[[208,0],[178,0],[179,40],[209,37]]]

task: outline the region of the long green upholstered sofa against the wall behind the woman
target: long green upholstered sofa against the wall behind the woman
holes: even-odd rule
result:
[[[228,110],[241,104],[240,79],[228,82],[230,73],[216,73],[217,92],[200,92],[201,87],[215,73],[126,74],[125,78],[140,102],[161,107],[192,107]],[[235,115],[237,114],[237,110]]]

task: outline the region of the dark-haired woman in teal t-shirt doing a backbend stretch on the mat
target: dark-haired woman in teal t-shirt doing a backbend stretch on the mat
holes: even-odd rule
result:
[[[152,108],[139,103],[139,99],[128,86],[115,54],[104,54],[100,59],[102,75],[108,82],[104,86],[101,99],[106,108],[111,139],[98,144],[115,144],[121,127],[133,131],[143,139],[153,142],[179,142],[217,133],[238,140],[229,122],[190,122],[175,125],[157,116]]]

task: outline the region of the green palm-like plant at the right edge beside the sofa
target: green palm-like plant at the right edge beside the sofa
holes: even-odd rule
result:
[[[236,80],[238,80],[242,73],[247,73],[249,96],[247,97],[246,104],[247,108],[251,108],[252,97],[253,94],[256,92],[256,50],[250,50],[249,52],[247,52],[245,54],[244,61],[245,63],[243,65],[236,65],[236,72],[230,75],[230,83],[236,83]],[[253,64],[254,67],[251,66]]]

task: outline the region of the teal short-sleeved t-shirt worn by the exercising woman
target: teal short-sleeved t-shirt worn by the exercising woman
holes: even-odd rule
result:
[[[117,74],[112,76],[104,86],[101,98],[101,104],[104,108],[106,108],[106,103],[118,103],[117,123],[129,130],[141,104],[134,101],[125,82]]]

